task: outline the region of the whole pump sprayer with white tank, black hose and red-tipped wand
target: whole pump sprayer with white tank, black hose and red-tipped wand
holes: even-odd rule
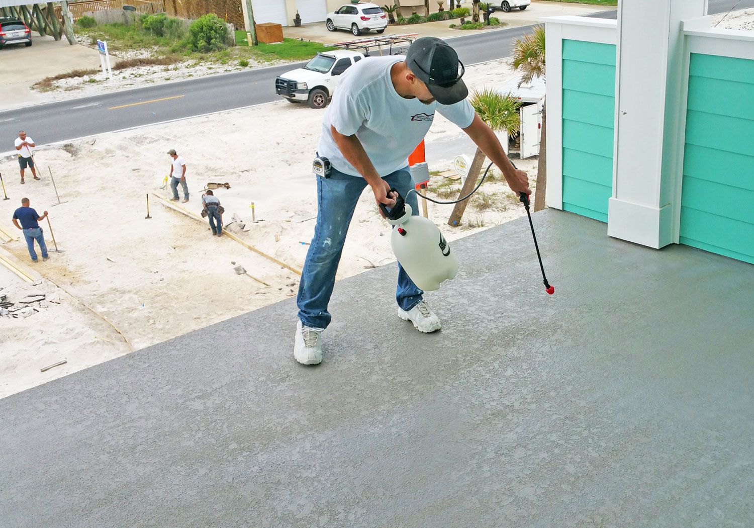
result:
[[[513,161],[511,161],[511,164],[513,164]],[[411,189],[408,194],[415,192],[416,195],[435,204],[457,204],[459,201],[467,200],[474,192],[477,192],[491,167],[492,163],[487,166],[474,190],[463,198],[458,198],[458,200],[437,201],[422,195],[415,189]],[[513,165],[513,167],[516,168],[516,165]],[[411,280],[414,281],[414,284],[425,291],[437,290],[440,288],[441,282],[454,278],[455,274],[458,273],[458,257],[450,250],[450,244],[448,244],[440,229],[430,219],[424,216],[412,216],[413,211],[411,206],[406,204],[406,201],[398,194],[396,189],[390,190],[397,196],[396,204],[390,209],[385,207],[384,204],[380,204],[380,208],[385,213],[388,223],[393,226],[390,240],[393,253]],[[550,285],[547,277],[544,275],[542,257],[539,253],[539,244],[537,244],[537,235],[535,235],[532,215],[529,212],[529,195],[522,192],[520,193],[519,200],[526,207],[526,215],[529,216],[529,226],[532,228],[532,238],[534,238],[534,247],[537,250],[537,258],[539,259],[539,267],[544,279],[545,291],[552,295],[555,293],[555,287]]]

